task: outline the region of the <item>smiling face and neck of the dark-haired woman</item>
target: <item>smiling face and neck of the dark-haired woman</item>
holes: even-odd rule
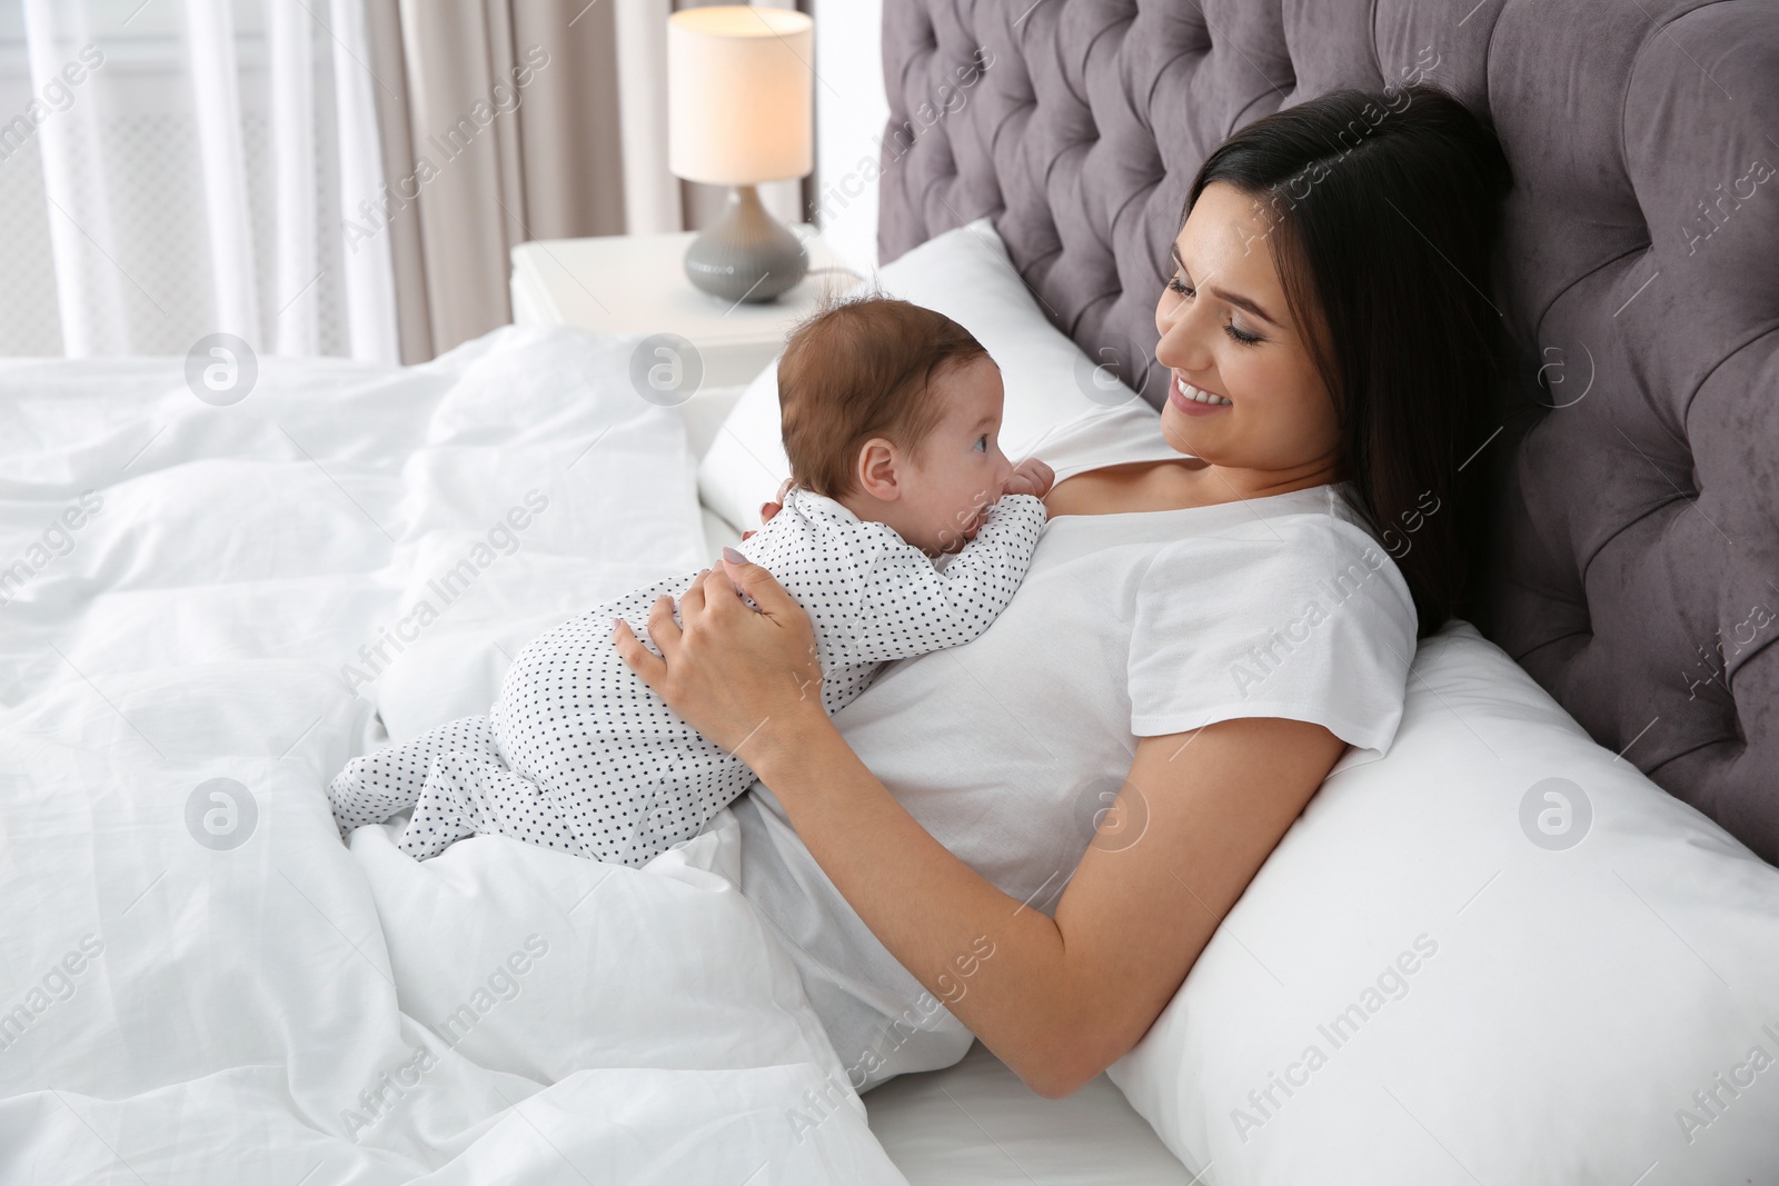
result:
[[[1172,372],[1162,434],[1181,453],[1245,471],[1256,493],[1340,471],[1334,402],[1292,322],[1267,229],[1252,197],[1206,185],[1155,308],[1155,357]]]

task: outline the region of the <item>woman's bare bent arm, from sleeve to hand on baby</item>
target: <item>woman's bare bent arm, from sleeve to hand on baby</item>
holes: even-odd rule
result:
[[[614,624],[630,667],[754,768],[879,941],[1051,1099],[1147,1031],[1343,749],[1279,718],[1140,738],[1051,919],[946,852],[859,763],[815,695],[808,617],[770,573],[729,564],[680,613],[683,628],[664,599],[649,615],[664,660]]]

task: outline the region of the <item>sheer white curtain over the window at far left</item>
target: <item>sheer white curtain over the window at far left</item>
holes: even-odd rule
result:
[[[0,16],[0,350],[398,361],[390,244],[343,229],[382,185],[370,60],[363,0]]]

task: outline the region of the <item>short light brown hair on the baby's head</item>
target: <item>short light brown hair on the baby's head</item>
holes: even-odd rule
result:
[[[827,498],[857,487],[859,450],[886,437],[909,453],[939,423],[930,397],[946,370],[989,357],[975,334],[932,309],[866,293],[824,301],[779,356],[779,427],[792,480]]]

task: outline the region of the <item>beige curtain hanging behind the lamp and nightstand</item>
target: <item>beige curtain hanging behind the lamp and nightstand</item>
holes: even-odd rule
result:
[[[697,2],[368,0],[386,187],[354,217],[390,236],[404,363],[512,320],[514,244],[699,229],[720,210],[726,190],[667,172],[681,7]],[[808,220],[804,183],[761,197]]]

